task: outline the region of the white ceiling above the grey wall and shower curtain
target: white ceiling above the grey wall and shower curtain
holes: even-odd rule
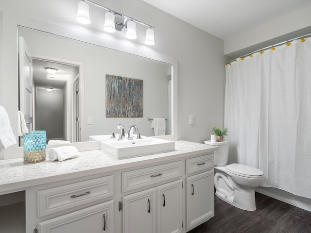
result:
[[[311,4],[311,0],[143,1],[223,40]]]

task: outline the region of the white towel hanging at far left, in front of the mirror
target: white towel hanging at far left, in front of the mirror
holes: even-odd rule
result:
[[[0,152],[16,144],[9,116],[4,107],[0,106]]]

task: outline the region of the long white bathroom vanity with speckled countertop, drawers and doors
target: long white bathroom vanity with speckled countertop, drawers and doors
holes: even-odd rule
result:
[[[24,214],[12,216],[26,219],[20,232],[185,233],[214,216],[214,150],[176,141],[174,151],[122,160],[102,150],[63,162],[2,160],[0,195],[24,195],[25,208],[13,211]],[[17,233],[14,221],[0,232]]]

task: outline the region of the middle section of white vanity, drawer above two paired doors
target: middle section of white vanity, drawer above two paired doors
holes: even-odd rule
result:
[[[122,173],[123,233],[182,232],[182,161]],[[172,179],[177,181],[168,182]]]

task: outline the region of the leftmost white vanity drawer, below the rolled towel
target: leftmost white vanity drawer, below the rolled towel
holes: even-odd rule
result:
[[[37,192],[38,217],[113,196],[113,176],[72,183]]]

